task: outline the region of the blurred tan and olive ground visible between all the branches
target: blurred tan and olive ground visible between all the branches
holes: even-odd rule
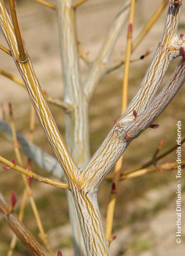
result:
[[[55,1],[53,1],[55,2]],[[139,0],[136,4],[136,18],[134,22],[134,38],[150,18],[151,14],[160,4],[160,0]],[[90,51],[89,59],[93,60],[102,44],[106,31],[111,25],[113,17],[120,6],[120,0],[89,0],[77,10],[77,26],[79,40],[86,51]],[[58,46],[57,15],[54,11],[39,5],[32,0],[20,1],[18,4],[18,17],[20,20],[23,38],[26,48],[32,59],[35,72],[40,84],[46,92],[53,97],[62,99],[62,73]],[[179,34],[185,32],[185,8],[180,21]],[[143,43],[137,48],[132,58],[143,55],[146,50],[151,54],[131,65],[129,100],[133,97],[146,69],[151,61],[153,53],[160,41],[166,17],[166,10],[161,15],[155,26]],[[120,52],[125,51],[126,27],[123,29],[112,59],[120,58]],[[2,34],[0,43],[6,45]],[[168,81],[178,60],[175,60],[163,81]],[[11,57],[0,52],[0,68],[5,69],[16,76],[18,72]],[[86,76],[87,67],[82,64],[83,75]],[[121,86],[123,68],[106,75],[97,86],[90,103],[90,143],[91,152],[95,152],[113,126],[113,120],[120,116]],[[185,127],[185,88],[183,87],[170,106],[155,122],[160,124],[157,130],[148,129],[139,138],[134,140],[124,153],[124,169],[132,168],[150,159],[160,139],[164,139],[162,151],[176,143],[177,120],[182,122],[182,136]],[[26,90],[12,81],[0,76],[0,102],[7,106],[12,102],[16,128],[28,137],[30,100]],[[58,107],[50,105],[58,127],[64,135],[63,114]],[[7,107],[6,107],[7,109]],[[8,117],[7,117],[8,121]],[[53,154],[44,132],[36,120],[34,141],[42,149]],[[182,147],[182,157],[184,156]],[[12,145],[0,136],[0,155],[7,159],[14,158]],[[173,152],[161,161],[176,161],[176,153]],[[0,190],[10,201],[11,191],[18,195],[18,206],[21,201],[23,184],[16,171],[2,171],[0,164]],[[37,166],[33,170],[41,175],[47,175]],[[185,183],[182,170],[182,237],[181,244],[176,244],[176,171],[152,173],[133,180],[121,182],[116,203],[115,218],[113,223],[113,235],[117,239],[111,244],[112,255],[128,256],[174,256],[184,255],[185,251]],[[44,224],[44,229],[49,235],[53,251],[62,250],[64,256],[73,255],[71,230],[69,225],[67,199],[65,192],[55,187],[33,182],[33,195],[35,197],[39,213]],[[104,182],[99,189],[99,206],[102,219],[105,222],[106,209],[109,201],[110,184]],[[27,204],[23,220],[28,229],[38,238],[38,229],[32,214],[30,205]],[[0,218],[0,255],[7,254],[12,231]],[[17,243],[14,256],[30,255],[21,242]]]

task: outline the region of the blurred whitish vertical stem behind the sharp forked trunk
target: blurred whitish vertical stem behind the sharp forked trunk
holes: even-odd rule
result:
[[[75,14],[72,0],[58,0],[60,49],[64,76],[64,101],[73,104],[65,113],[66,144],[77,166],[83,167],[90,158],[88,137],[88,102],[83,93],[77,52]],[[75,256],[85,256],[81,228],[71,192],[67,192],[72,223]]]

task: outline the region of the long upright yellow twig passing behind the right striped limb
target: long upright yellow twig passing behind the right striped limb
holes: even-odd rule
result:
[[[134,11],[135,11],[135,0],[131,0],[129,26],[128,26],[128,34],[127,34],[127,48],[126,48],[126,55],[125,55],[125,69],[124,69],[124,77],[123,77],[122,114],[124,113],[127,107],[127,88],[128,88],[129,69],[130,69],[130,55],[132,50],[132,27],[134,22]],[[105,235],[108,241],[110,241],[111,239],[113,214],[114,214],[114,209],[116,204],[116,193],[117,193],[118,183],[120,179],[120,169],[122,166],[122,161],[123,161],[123,156],[121,156],[118,162],[116,163],[114,174],[113,174],[113,183],[111,187],[111,194],[110,194],[109,205],[108,205],[108,210],[106,215],[106,228],[105,228]]]

